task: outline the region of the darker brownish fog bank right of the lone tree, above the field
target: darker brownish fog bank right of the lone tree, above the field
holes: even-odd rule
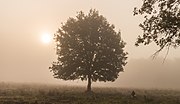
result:
[[[132,59],[117,80],[119,86],[180,89],[180,59]]]

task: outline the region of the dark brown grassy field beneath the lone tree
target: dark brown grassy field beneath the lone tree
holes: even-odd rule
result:
[[[180,91],[0,83],[0,104],[180,104]],[[131,92],[136,92],[136,98]]]

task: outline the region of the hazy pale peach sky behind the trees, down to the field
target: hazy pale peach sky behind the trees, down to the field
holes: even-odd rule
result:
[[[176,86],[178,80],[173,78],[178,79],[180,76],[180,69],[176,70],[180,61],[180,48],[170,50],[166,63],[170,62],[171,65],[168,71],[161,72],[164,68],[158,66],[162,65],[162,60],[157,64],[150,59],[158,49],[157,46],[134,46],[137,36],[142,34],[138,27],[142,17],[133,16],[133,8],[141,3],[142,0],[0,0],[0,81],[67,83],[54,79],[49,72],[48,67],[56,61],[55,45],[53,41],[43,43],[41,36],[46,33],[53,37],[68,17],[75,17],[81,10],[87,13],[93,8],[114,24],[116,30],[121,30],[122,38],[127,43],[129,63],[116,85],[120,82],[120,86],[139,87],[149,82],[154,87],[160,84],[164,86],[164,83],[166,86],[172,85],[169,87]],[[159,57],[164,55],[165,52],[162,52]],[[167,79],[171,83],[165,82]]]

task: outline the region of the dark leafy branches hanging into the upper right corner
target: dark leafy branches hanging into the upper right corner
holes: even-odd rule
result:
[[[180,0],[143,0],[141,8],[134,9],[134,15],[138,14],[144,16],[139,25],[144,33],[136,46],[155,42],[160,47],[156,53],[180,46]]]

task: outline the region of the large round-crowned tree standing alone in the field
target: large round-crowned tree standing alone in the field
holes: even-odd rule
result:
[[[115,81],[126,65],[125,42],[115,26],[90,10],[69,18],[54,35],[57,62],[50,70],[54,77],[63,80],[88,80],[87,91],[92,81]]]

